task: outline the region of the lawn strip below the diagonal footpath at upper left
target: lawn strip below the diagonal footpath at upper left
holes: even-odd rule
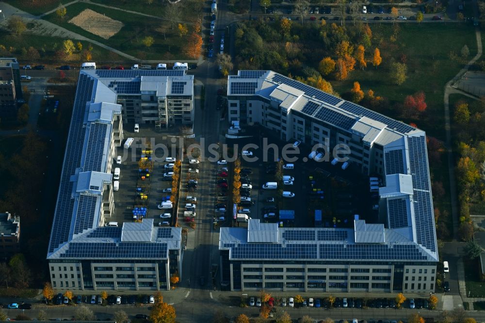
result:
[[[0,34],[0,44],[7,48],[7,52],[2,53],[3,56],[14,56],[20,62],[20,65],[23,64],[31,64],[31,65],[54,65],[59,66],[59,60],[56,59],[54,53],[56,50],[62,47],[62,43],[65,39],[58,38],[58,37],[50,37],[50,36],[40,36],[40,35],[32,35],[25,33],[20,37],[15,37],[13,35],[2,33]],[[87,42],[81,42],[84,48],[87,48]],[[29,48],[33,47],[39,50],[40,58],[36,60],[32,60],[25,53],[23,52],[22,48]],[[9,51],[9,48],[12,47],[13,50]],[[42,48],[45,49],[42,50]],[[95,62],[106,62],[108,59],[110,61],[119,60],[119,56],[107,49],[98,47],[93,45],[92,50],[93,61]],[[75,52],[66,63],[81,63],[84,60],[81,58],[79,52]]]

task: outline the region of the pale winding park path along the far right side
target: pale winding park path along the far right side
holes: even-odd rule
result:
[[[477,0],[473,0],[473,12],[474,16],[478,16],[478,6]],[[450,195],[451,195],[451,204],[452,204],[452,219],[453,219],[453,238],[457,240],[457,233],[459,227],[459,210],[458,210],[458,202],[457,202],[457,191],[456,191],[456,178],[455,178],[455,169],[454,169],[454,160],[453,160],[453,142],[452,142],[452,133],[451,133],[451,125],[450,125],[450,94],[464,94],[463,91],[455,89],[452,84],[459,80],[463,74],[465,74],[468,70],[470,65],[473,65],[481,56],[482,56],[482,35],[480,32],[480,27],[475,27],[475,37],[477,39],[477,54],[473,57],[467,65],[465,65],[450,81],[448,81],[445,85],[445,93],[444,93],[444,112],[445,112],[445,130],[446,130],[446,149],[448,152],[448,175],[450,177]],[[470,97],[469,95],[467,95]],[[475,97],[472,97],[475,98]],[[476,99],[476,98],[475,98]],[[462,295],[462,297],[466,297],[466,295]]]

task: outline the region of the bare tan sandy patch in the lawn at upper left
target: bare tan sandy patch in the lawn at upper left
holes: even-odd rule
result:
[[[83,10],[69,22],[104,39],[112,37],[125,26],[121,21],[101,15],[91,9]]]

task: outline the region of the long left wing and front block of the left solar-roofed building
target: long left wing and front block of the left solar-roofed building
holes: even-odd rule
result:
[[[156,227],[153,219],[106,226],[114,210],[115,148],[123,141],[116,102],[140,90],[129,84],[137,82],[132,72],[80,71],[47,255],[54,288],[170,290],[170,277],[179,276],[180,228]],[[171,71],[137,71],[147,72],[163,82]],[[131,81],[121,85],[123,79]]]

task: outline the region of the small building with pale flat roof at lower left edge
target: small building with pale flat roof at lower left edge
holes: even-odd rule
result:
[[[9,212],[0,213],[0,259],[7,259],[20,251],[20,217]]]

